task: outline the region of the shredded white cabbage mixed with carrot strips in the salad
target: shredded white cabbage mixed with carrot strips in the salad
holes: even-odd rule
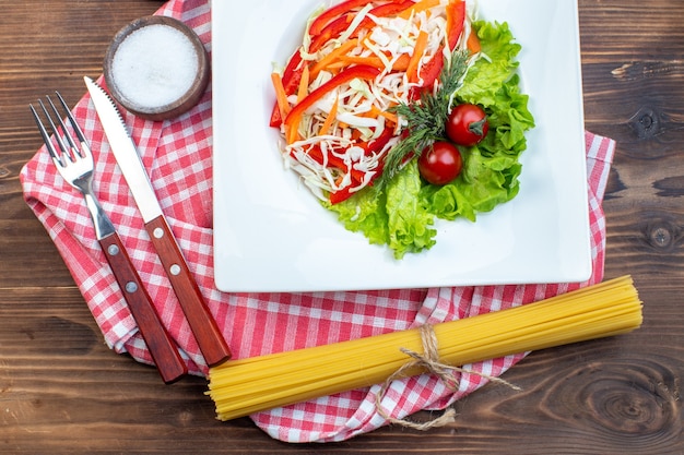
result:
[[[355,14],[339,37],[331,38],[319,49],[311,49],[308,31],[322,11],[319,10],[309,19],[298,50],[305,62],[310,65],[320,62],[350,39],[356,39],[356,45],[345,56],[375,58],[381,63],[380,73],[374,81],[354,79],[314,103],[297,124],[296,140],[281,148],[285,166],[299,173],[317,197],[326,200],[326,193],[341,190],[357,192],[378,175],[382,157],[399,141],[398,134],[404,125],[402,119],[386,112],[393,106],[408,104],[412,88],[424,84],[421,76],[424,65],[447,43],[447,3],[448,0],[441,0],[436,7],[413,12],[408,17],[375,16],[372,11],[377,4],[369,3]],[[467,3],[467,21],[459,47],[465,46],[470,34],[469,17],[475,13],[474,3],[470,0]],[[361,26],[368,19],[373,25]],[[413,57],[421,31],[427,34],[427,44],[417,61],[417,79],[410,81],[405,62]],[[444,49],[445,55],[450,56],[448,46],[444,46]],[[339,67],[335,67],[339,61],[332,59],[329,68],[309,81],[307,94],[334,76],[339,71]],[[294,94],[287,97],[287,101],[295,106],[300,99]],[[335,116],[329,119],[333,110]],[[283,139],[288,137],[284,124],[281,132]],[[369,146],[382,137],[386,141],[379,147]]]

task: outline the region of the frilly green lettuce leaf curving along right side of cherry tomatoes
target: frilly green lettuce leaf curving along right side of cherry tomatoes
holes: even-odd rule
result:
[[[477,212],[490,212],[518,194],[524,133],[534,127],[528,96],[520,93],[516,74],[520,45],[514,41],[508,25],[480,21],[473,27],[486,58],[470,69],[457,101],[482,106],[490,134],[476,146],[461,148],[463,170],[455,181],[423,188],[423,204],[444,219],[462,216],[474,221]]]

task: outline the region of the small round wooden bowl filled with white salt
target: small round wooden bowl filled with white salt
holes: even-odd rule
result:
[[[113,39],[104,62],[109,93],[132,113],[164,120],[189,110],[209,83],[202,41],[168,16],[138,19]]]

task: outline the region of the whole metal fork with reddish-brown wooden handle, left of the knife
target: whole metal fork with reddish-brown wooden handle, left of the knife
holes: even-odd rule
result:
[[[145,290],[138,272],[133,267],[111,220],[93,193],[94,164],[91,147],[76,120],[64,103],[64,99],[58,92],[56,92],[56,94],[59,98],[59,104],[67,113],[71,130],[75,134],[78,142],[74,140],[72,133],[69,132],[59,110],[49,96],[47,96],[46,99],[52,115],[50,115],[43,100],[38,99],[38,103],[52,130],[55,142],[50,139],[36,109],[33,105],[30,105],[38,130],[40,130],[43,141],[50,153],[52,163],[55,163],[62,178],[83,194],[85,205],[95,225],[97,241],[107,258],[107,262],[138,323],[140,333],[150,349],[150,354],[156,363],[162,379],[167,384],[177,381],[188,372],[188,369],[176,348],[175,342],[168,335],[168,332],[154,309],[152,299]],[[52,117],[57,120],[52,120]],[[57,147],[55,147],[55,143],[57,143]]]

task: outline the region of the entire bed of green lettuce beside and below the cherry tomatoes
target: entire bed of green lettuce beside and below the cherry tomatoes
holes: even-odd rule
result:
[[[490,133],[476,146],[460,148],[461,175],[448,184],[432,185],[421,179],[414,159],[384,192],[370,187],[342,203],[323,203],[346,229],[363,232],[370,243],[389,246],[397,259],[436,243],[435,217],[475,221],[477,213],[492,211],[519,191],[519,156],[527,148],[524,133],[534,127],[516,73],[520,45],[506,23],[479,21],[473,27],[486,58],[469,70],[456,99],[482,106]]]

